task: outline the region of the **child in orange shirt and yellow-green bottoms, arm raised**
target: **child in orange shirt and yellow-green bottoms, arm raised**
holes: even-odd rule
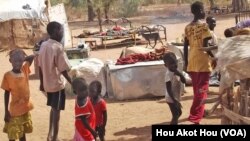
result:
[[[8,134],[10,141],[17,139],[26,141],[25,134],[31,133],[33,130],[29,112],[33,109],[29,91],[29,67],[34,55],[26,57],[23,50],[14,49],[10,51],[9,56],[13,68],[4,74],[1,85],[1,88],[5,90],[4,132]]]

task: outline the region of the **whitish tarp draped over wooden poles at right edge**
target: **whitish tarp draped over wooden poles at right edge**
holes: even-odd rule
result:
[[[235,80],[250,78],[250,36],[240,35],[220,42],[217,70],[220,71],[220,91]]]

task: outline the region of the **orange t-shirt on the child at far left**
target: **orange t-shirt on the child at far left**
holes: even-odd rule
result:
[[[9,112],[13,117],[21,116],[33,109],[30,101],[29,66],[30,64],[25,61],[21,73],[8,71],[3,77],[1,88],[10,92]]]

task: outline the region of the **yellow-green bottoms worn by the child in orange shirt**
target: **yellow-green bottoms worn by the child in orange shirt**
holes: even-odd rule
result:
[[[11,117],[9,122],[5,122],[3,132],[8,134],[9,140],[18,140],[26,133],[33,131],[31,115],[29,112]]]

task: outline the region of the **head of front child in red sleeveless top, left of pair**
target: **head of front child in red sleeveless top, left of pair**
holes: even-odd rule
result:
[[[88,96],[88,84],[83,78],[75,78],[72,82],[74,93],[77,99],[85,99]]]

